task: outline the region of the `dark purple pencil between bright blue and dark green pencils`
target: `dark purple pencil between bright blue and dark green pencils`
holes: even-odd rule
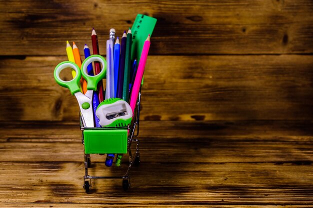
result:
[[[124,66],[125,66],[125,52],[126,52],[126,31],[124,31],[123,36],[120,41],[120,56],[119,56],[119,66],[118,66],[118,79],[117,79],[117,93],[116,97],[122,98],[123,96],[123,83],[124,83]]]

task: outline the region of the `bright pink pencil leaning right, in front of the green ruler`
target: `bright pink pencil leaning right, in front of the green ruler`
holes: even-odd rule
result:
[[[145,62],[146,62],[146,58],[147,58],[148,52],[149,52],[149,47],[150,47],[150,35],[148,35],[148,37],[144,41],[139,65],[138,65],[137,72],[136,72],[136,77],[135,77],[135,80],[133,82],[133,86],[132,86],[132,90],[131,90],[129,105],[130,105],[130,108],[132,110],[132,114],[134,114],[134,110],[136,107],[138,94],[139,94],[139,90],[140,90],[140,85],[141,85],[141,80],[142,80],[142,76],[143,76],[143,72],[144,72]]]

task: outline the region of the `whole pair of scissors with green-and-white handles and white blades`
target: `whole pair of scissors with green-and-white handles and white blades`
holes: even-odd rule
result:
[[[102,64],[100,73],[94,76],[88,75],[87,66],[93,62],[98,61]],[[69,81],[64,81],[59,77],[60,72],[65,68],[72,68],[76,71],[76,76]],[[54,69],[54,79],[57,84],[62,87],[68,88],[72,95],[75,95],[79,109],[81,112],[82,122],[84,127],[94,127],[93,111],[92,111],[92,94],[96,91],[99,81],[106,75],[106,61],[100,55],[91,55],[87,57],[81,64],[81,70],[77,64],[70,61],[63,61],[59,63]],[[80,78],[81,76],[87,81],[87,92],[83,94],[80,92]]]

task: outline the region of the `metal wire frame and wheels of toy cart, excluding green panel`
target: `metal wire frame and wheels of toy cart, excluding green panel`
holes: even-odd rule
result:
[[[139,115],[140,115],[140,98],[141,93],[139,91],[138,100],[137,100],[137,107],[136,107],[136,118],[132,119],[132,122],[127,127],[94,127],[94,128],[86,128],[82,125],[82,118],[80,117],[80,130],[82,131],[81,134],[81,142],[84,145],[84,138],[83,138],[83,131],[84,130],[112,130],[112,129],[128,129],[129,135],[127,136],[127,152],[129,155],[129,165],[127,168],[126,173],[123,176],[89,176],[88,175],[88,168],[91,166],[91,160],[90,155],[91,154],[84,154],[84,167],[85,167],[85,175],[83,176],[83,189],[86,193],[88,193],[91,189],[91,179],[122,179],[122,188],[124,191],[127,191],[130,188],[130,177],[129,177],[129,171],[130,168],[133,165],[139,165],[140,164],[140,154],[139,154],[139,140],[134,139],[139,134]],[[136,134],[134,134],[135,129],[137,129]],[[136,143],[136,153],[132,156],[131,154],[131,143]],[[103,153],[105,154],[105,153]]]

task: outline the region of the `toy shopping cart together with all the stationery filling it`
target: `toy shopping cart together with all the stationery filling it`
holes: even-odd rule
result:
[[[141,17],[142,18],[142,17]],[[146,23],[146,19],[144,18],[144,22]],[[154,22],[155,23],[155,22]],[[81,141],[82,144],[84,145],[84,176],[83,176],[83,188],[86,193],[88,193],[91,189],[91,181],[95,179],[122,179],[122,188],[126,191],[130,187],[130,182],[129,182],[129,171],[132,166],[138,165],[140,163],[140,154],[139,154],[139,140],[135,138],[138,135],[139,131],[139,112],[140,112],[140,100],[141,100],[141,94],[140,94],[140,77],[142,77],[141,74],[143,74],[144,70],[144,64],[146,60],[146,55],[147,55],[147,50],[148,47],[145,45],[143,48],[142,56],[138,56],[133,53],[134,58],[137,58],[137,62],[131,62],[134,59],[131,60],[132,54],[131,54],[131,41],[133,40],[132,37],[129,38],[129,35],[131,35],[131,32],[135,31],[136,34],[139,33],[143,29],[142,28],[141,22],[135,21],[134,25],[139,25],[139,27],[133,27],[134,30],[128,32],[128,42],[127,42],[127,34],[124,32],[123,36],[120,41],[119,45],[119,51],[118,51],[118,44],[113,44],[110,45],[108,49],[113,52],[107,53],[106,59],[110,59],[111,57],[113,58],[113,61],[111,61],[113,65],[113,80],[114,80],[114,97],[119,96],[119,91],[120,91],[120,97],[119,100],[118,98],[109,98],[105,100],[101,105],[98,105],[98,102],[96,103],[95,100],[99,101],[99,97],[97,99],[97,93],[96,89],[99,84],[97,83],[102,83],[102,78],[106,77],[106,72],[109,74],[109,67],[107,63],[105,62],[105,59],[102,56],[99,55],[93,55],[93,56],[98,56],[95,59],[89,60],[90,58],[93,58],[93,56],[90,56],[90,50],[85,45],[84,47],[84,55],[85,55],[85,60],[81,63],[81,60],[78,58],[79,52],[77,48],[77,64],[79,65],[80,63],[81,68],[79,69],[79,66],[74,62],[75,56],[69,55],[69,60],[70,61],[65,61],[62,63],[59,63],[55,69],[54,69],[54,78],[56,82],[63,86],[66,87],[70,90],[71,94],[75,95],[79,109],[80,109],[80,115],[79,115],[79,120],[80,120],[80,129],[82,130],[82,137]],[[140,26],[141,25],[141,26]],[[150,27],[150,25],[147,25],[147,27]],[[154,25],[153,25],[154,27]],[[130,28],[129,28],[130,29]],[[113,37],[115,37],[115,31],[110,30],[110,36],[109,39],[112,40]],[[130,34],[129,34],[130,33]],[[151,32],[149,32],[151,33]],[[136,37],[133,37],[134,39]],[[144,40],[140,38],[140,41]],[[94,31],[92,30],[91,33],[91,41],[92,41],[92,51],[94,54],[98,53],[98,45],[97,45],[97,36]],[[118,42],[117,41],[117,42]],[[147,40],[148,41],[148,40]],[[116,42],[116,43],[117,43]],[[114,41],[112,40],[112,43]],[[127,44],[126,44],[127,43]],[[126,55],[126,45],[127,45],[127,55]],[[67,50],[70,52],[74,49],[76,50],[75,44],[73,44],[73,49],[69,46]],[[143,44],[142,44],[143,46]],[[117,48],[114,50],[114,48]],[[130,48],[130,51],[129,51]],[[135,47],[136,53],[138,52],[137,46]],[[141,52],[141,48],[139,49]],[[145,51],[145,52],[144,52]],[[67,51],[66,51],[67,52]],[[73,53],[74,51],[72,51]],[[74,52],[76,54],[76,52]],[[117,58],[119,56],[119,58]],[[126,61],[125,59],[128,58]],[[142,59],[144,61],[139,61],[139,59]],[[78,60],[79,59],[79,60]],[[80,61],[80,63],[79,63]],[[107,60],[108,61],[108,60]],[[91,62],[94,62],[91,64]],[[102,65],[100,65],[102,63]],[[118,64],[115,64],[118,63]],[[137,72],[136,72],[136,63],[139,64]],[[92,65],[95,64],[94,70],[92,68]],[[114,65],[116,65],[114,68]],[[102,66],[102,70],[100,70],[100,67]],[[132,67],[131,67],[132,66]],[[65,69],[65,68],[73,68],[73,71],[75,73],[74,77],[70,81],[63,81],[60,79],[60,72]],[[107,68],[107,70],[106,70]],[[128,99],[122,100],[121,98],[123,97],[123,87],[124,87],[124,74],[125,74],[125,69],[127,70],[126,73],[128,75],[126,76],[128,80],[126,81],[126,89],[128,90],[128,93],[130,93],[130,96],[128,95]],[[129,70],[130,69],[130,70]],[[105,72],[103,72],[105,70]],[[117,73],[115,71],[117,70]],[[96,74],[93,76],[93,74]],[[114,76],[116,75],[116,77]],[[98,78],[100,76],[100,78]],[[80,92],[80,83],[79,79],[80,77],[86,77],[86,82],[87,82],[87,92],[85,95]],[[110,76],[111,77],[111,76]],[[121,78],[120,78],[121,77]],[[115,82],[117,78],[117,81]],[[139,82],[139,84],[138,84]],[[90,83],[92,86],[90,86]],[[120,87],[119,87],[120,84]],[[82,85],[82,83],[81,83]],[[139,86],[138,86],[139,85]],[[135,86],[135,89],[132,89],[131,87]],[[120,90],[118,90],[120,89]],[[95,92],[94,92],[95,91]],[[137,92],[138,91],[138,92]],[[101,92],[103,93],[103,86],[101,88]],[[105,93],[105,91],[104,91]],[[102,95],[102,99],[104,98],[104,94]],[[129,99],[130,98],[130,99]],[[133,100],[135,100],[134,107],[132,108],[129,103],[133,105]],[[92,105],[92,106],[91,106]],[[100,124],[97,122],[97,107],[101,109],[102,111],[99,111],[103,115],[100,116],[101,118],[104,118],[104,123],[103,125],[106,126],[100,126]],[[77,113],[78,115],[78,113]],[[96,128],[95,128],[96,127]],[[135,143],[132,145],[132,143]],[[130,147],[135,147],[135,151],[131,153],[133,150]],[[129,164],[127,164],[125,167],[127,168],[126,173],[120,177],[118,176],[91,176],[88,174],[88,168],[91,166],[91,154],[100,154],[100,155],[106,155],[107,159],[105,161],[106,166],[111,166],[113,164],[113,159],[116,154],[116,160],[115,160],[115,166],[120,166],[121,159],[123,154],[126,154],[129,156]],[[115,173],[115,172],[114,172]],[[94,185],[93,185],[94,186]]]

